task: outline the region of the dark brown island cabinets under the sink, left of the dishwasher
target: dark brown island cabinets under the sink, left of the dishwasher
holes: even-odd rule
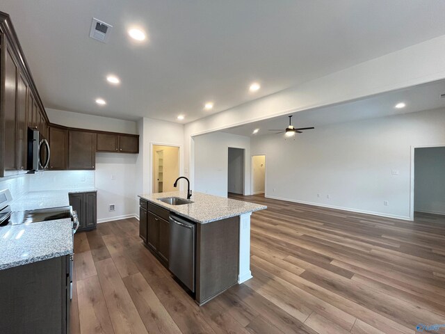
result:
[[[147,208],[147,209],[145,209]],[[170,212],[140,200],[139,235],[149,250],[168,268],[170,248]]]

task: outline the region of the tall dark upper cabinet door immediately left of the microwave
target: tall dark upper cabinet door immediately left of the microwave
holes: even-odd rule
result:
[[[24,170],[28,150],[28,125],[26,124],[26,101],[28,100],[28,83],[23,74],[19,74],[17,86],[17,168]]]

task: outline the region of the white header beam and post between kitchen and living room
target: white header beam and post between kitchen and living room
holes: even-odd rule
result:
[[[444,54],[442,35],[190,122],[184,129],[185,166],[193,177],[191,136],[444,79]]]

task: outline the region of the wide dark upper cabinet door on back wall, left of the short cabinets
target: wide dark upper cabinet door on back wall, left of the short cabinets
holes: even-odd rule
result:
[[[68,169],[95,169],[96,134],[94,132],[68,131]]]

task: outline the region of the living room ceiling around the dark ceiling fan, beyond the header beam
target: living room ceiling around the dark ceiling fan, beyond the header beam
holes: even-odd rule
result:
[[[292,125],[295,127],[323,127],[341,122],[352,122],[369,118],[398,115],[402,113],[413,113],[437,108],[445,108],[445,97],[440,95],[445,93],[445,80],[423,84],[403,90],[375,95],[366,99],[353,102],[325,106],[323,108],[298,111],[291,113]],[[394,106],[399,102],[406,104],[403,109],[396,109]],[[444,111],[445,112],[445,111]],[[289,125],[287,116],[269,118],[258,122],[251,122],[239,127],[221,130],[229,134],[241,136],[263,136],[265,134],[276,134],[269,129],[285,129]],[[254,129],[259,129],[257,134],[252,134]],[[304,136],[305,134],[297,134]]]

